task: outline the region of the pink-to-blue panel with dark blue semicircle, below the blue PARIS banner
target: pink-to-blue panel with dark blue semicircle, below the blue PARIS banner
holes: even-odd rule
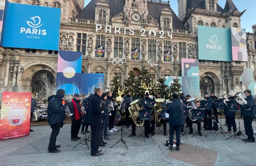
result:
[[[81,73],[82,71],[82,52],[59,51],[57,72]]]

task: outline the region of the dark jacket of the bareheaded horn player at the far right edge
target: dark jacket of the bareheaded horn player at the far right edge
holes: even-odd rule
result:
[[[251,94],[247,98],[245,98],[247,101],[247,104],[245,105],[240,105],[239,107],[241,108],[241,114],[249,117],[255,117],[255,98]],[[247,109],[247,110],[246,110]],[[250,110],[248,110],[250,109]]]

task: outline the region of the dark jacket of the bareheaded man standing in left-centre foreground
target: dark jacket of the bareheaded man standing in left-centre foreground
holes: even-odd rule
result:
[[[101,124],[102,111],[103,109],[100,106],[100,98],[96,93],[94,93],[94,95],[89,98],[89,103],[88,103],[87,112],[85,116],[85,122],[90,124]]]

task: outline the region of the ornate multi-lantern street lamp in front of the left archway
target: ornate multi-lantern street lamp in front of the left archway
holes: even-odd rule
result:
[[[25,69],[24,69],[24,67],[21,67],[20,71],[19,71],[19,60],[13,59],[9,70],[10,70],[11,77],[13,77],[15,74],[15,84],[13,86],[13,92],[17,92],[18,91],[18,82],[17,82],[18,75],[23,74]]]

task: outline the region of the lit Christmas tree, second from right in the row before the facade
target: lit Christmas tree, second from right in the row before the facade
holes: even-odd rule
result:
[[[169,98],[168,86],[164,84],[166,78],[158,78],[157,86],[153,88],[153,95],[156,97],[157,94],[161,95],[161,98]]]

